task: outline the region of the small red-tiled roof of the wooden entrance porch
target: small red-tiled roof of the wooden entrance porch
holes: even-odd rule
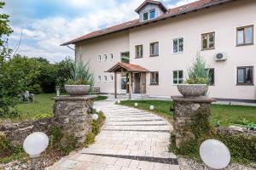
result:
[[[133,72],[148,72],[147,69],[143,68],[140,65],[132,65],[128,63],[118,62],[116,65],[113,65],[107,72],[117,72],[119,69],[125,69],[125,71],[133,71]]]

